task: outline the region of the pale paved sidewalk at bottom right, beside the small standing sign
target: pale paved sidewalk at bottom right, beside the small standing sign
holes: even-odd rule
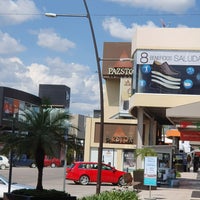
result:
[[[138,195],[141,200],[200,200],[200,172],[182,172],[178,180],[177,188],[161,186],[157,190],[142,190]]]

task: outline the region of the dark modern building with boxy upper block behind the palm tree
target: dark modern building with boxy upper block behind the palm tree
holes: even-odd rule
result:
[[[65,85],[39,85],[39,96],[9,87],[0,87],[0,128],[16,131],[22,113],[27,109],[39,110],[42,99],[48,99],[54,109],[69,110],[70,88]],[[82,138],[81,138],[82,139]],[[0,144],[0,147],[3,144]],[[63,153],[56,152],[63,159]]]

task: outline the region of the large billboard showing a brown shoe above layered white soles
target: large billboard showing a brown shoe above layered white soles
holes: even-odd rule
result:
[[[136,93],[200,94],[200,51],[137,50]]]

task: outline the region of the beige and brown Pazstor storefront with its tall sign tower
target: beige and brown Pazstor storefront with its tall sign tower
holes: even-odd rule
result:
[[[131,61],[121,62],[131,57],[131,43],[104,43],[103,77],[104,87],[104,138],[103,162],[117,169],[135,169],[134,149],[137,143],[137,119],[129,113]],[[85,157],[86,161],[98,160],[99,118],[86,121]]]

